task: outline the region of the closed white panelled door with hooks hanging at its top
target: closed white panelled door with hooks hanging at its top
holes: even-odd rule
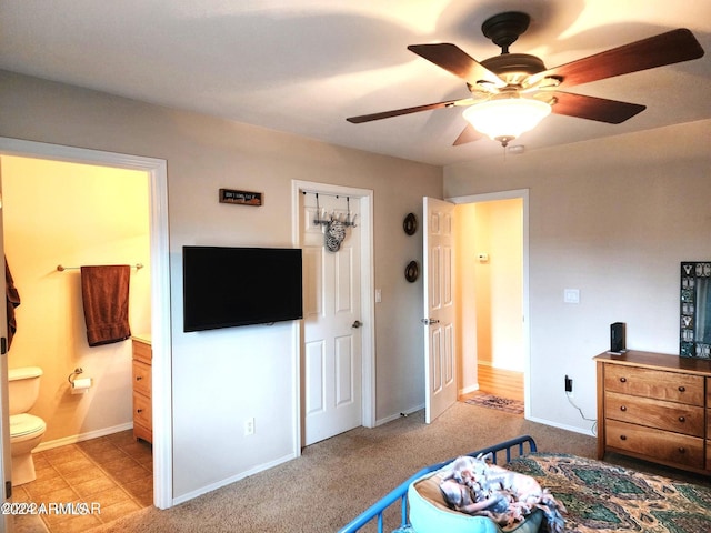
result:
[[[331,214],[358,217],[347,197],[302,194],[304,445],[362,422],[360,228],[347,228],[338,251],[324,244]]]

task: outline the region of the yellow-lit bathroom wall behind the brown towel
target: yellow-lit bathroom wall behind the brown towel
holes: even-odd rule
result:
[[[148,178],[143,172],[3,155],[4,253],[22,303],[9,368],[40,366],[32,413],[44,447],[132,423],[131,343],[89,348],[78,270],[57,265],[142,263],[132,271],[130,325],[150,332]],[[70,394],[77,368],[93,386]],[[58,442],[59,441],[59,442]]]

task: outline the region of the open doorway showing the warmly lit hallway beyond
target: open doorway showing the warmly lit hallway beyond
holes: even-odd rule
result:
[[[524,403],[530,358],[528,191],[454,202],[461,289],[460,399],[487,393]]]

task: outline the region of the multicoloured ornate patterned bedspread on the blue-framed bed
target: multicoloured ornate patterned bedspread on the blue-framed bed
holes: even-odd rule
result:
[[[507,467],[565,505],[570,533],[711,532],[711,486],[565,454],[531,454]]]

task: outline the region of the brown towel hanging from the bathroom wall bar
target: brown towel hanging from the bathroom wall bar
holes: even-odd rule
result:
[[[130,280],[131,268],[128,264],[81,268],[81,299],[90,346],[120,342],[131,336]]]

